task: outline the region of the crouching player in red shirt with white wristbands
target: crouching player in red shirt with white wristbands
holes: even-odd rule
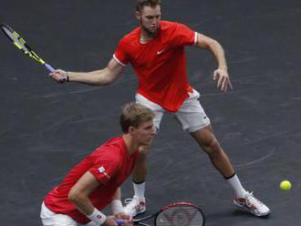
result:
[[[131,225],[123,210],[119,186],[129,177],[140,146],[149,146],[154,135],[150,108],[130,103],[122,110],[123,136],[109,139],[74,167],[45,198],[41,219],[45,226],[115,226],[116,219]],[[101,212],[110,203],[113,216]]]

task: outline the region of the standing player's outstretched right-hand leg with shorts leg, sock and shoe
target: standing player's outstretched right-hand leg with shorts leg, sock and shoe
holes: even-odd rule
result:
[[[208,154],[213,166],[221,172],[234,190],[234,203],[256,216],[265,216],[270,210],[253,194],[244,190],[240,180],[234,172],[228,156],[221,148],[213,134],[210,119],[206,116],[200,102],[198,92],[194,90],[191,98],[182,104],[176,116],[181,121],[183,129],[189,131],[200,147]]]

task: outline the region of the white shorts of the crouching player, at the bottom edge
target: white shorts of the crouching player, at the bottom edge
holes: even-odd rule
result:
[[[44,202],[41,207],[40,217],[44,226],[98,226],[93,221],[90,221],[88,224],[79,224],[65,214],[50,211]]]

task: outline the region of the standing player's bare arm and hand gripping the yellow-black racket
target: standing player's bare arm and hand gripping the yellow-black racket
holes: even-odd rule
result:
[[[123,72],[123,66],[112,58],[107,67],[91,72],[67,72],[57,69],[49,74],[49,77],[56,80],[58,83],[79,82],[92,86],[108,86],[113,83]]]

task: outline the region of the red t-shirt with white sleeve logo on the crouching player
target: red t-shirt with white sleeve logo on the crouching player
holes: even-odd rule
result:
[[[91,172],[101,183],[89,198],[94,207],[102,210],[109,204],[115,191],[130,176],[134,168],[138,151],[129,154],[122,137],[110,139],[83,159],[67,175],[65,180],[51,190],[44,202],[50,211],[70,216],[81,224],[88,223],[86,215],[67,200],[69,190],[87,171]]]

